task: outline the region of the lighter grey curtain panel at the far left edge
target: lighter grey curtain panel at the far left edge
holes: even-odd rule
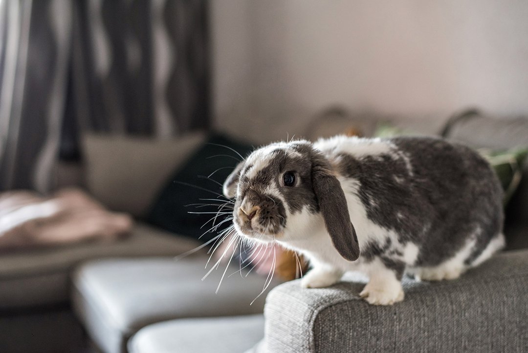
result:
[[[71,14],[61,0],[0,0],[0,190],[50,188]]]

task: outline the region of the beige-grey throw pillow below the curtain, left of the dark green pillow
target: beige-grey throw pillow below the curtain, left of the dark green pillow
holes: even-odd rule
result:
[[[205,141],[89,134],[83,138],[88,190],[105,206],[142,217],[167,178]]]

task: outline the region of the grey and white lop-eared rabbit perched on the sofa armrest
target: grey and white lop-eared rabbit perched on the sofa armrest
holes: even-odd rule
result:
[[[452,280],[504,246],[503,191],[477,152],[435,137],[335,136],[272,143],[223,183],[234,228],[306,256],[300,280],[369,277],[370,304],[403,300],[404,274]]]

